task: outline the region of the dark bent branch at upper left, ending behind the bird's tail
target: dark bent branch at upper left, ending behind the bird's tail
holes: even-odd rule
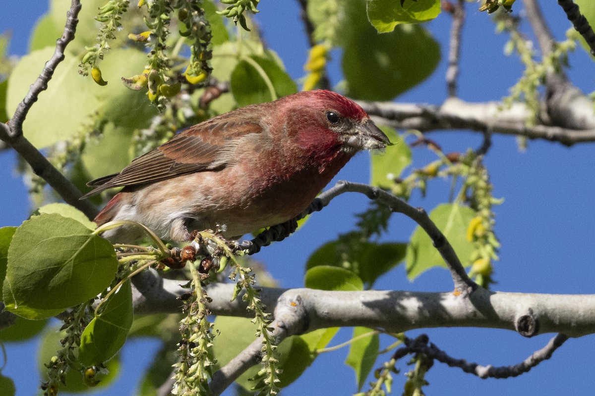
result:
[[[74,32],[79,22],[77,16],[79,15],[80,8],[80,1],[72,0],[70,9],[67,12],[64,33],[56,42],[54,55],[46,62],[35,83],[31,84],[29,93],[18,104],[17,110],[15,110],[10,121],[8,123],[0,123],[0,140],[14,148],[32,167],[33,172],[48,182],[65,202],[78,208],[87,217],[92,219],[97,214],[96,208],[89,201],[80,201],[79,198],[83,194],[79,189],[65,178],[23,135],[23,122],[29,109],[36,102],[39,94],[48,88],[48,82],[51,80],[55,68],[64,59],[64,49],[74,39]]]

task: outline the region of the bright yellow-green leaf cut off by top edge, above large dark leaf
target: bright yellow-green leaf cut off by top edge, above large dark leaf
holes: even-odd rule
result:
[[[401,23],[433,20],[440,14],[440,0],[406,0],[403,5],[396,0],[368,0],[366,9],[378,33],[387,33]]]

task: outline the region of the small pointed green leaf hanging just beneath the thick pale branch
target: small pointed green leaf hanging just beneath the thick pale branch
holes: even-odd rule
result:
[[[370,331],[372,330],[367,327],[354,327],[353,337],[358,337]],[[368,374],[374,368],[379,347],[380,340],[378,334],[360,338],[353,341],[349,346],[349,355],[347,355],[345,364],[355,370],[355,382],[358,385],[358,391],[364,386]]]

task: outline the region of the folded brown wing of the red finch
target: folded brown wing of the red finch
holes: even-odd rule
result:
[[[225,147],[233,145],[233,141],[243,135],[262,132],[262,126],[255,119],[247,121],[233,113],[236,112],[186,129],[155,150],[137,157],[120,173],[91,180],[87,185],[96,188],[83,198],[108,188],[153,183],[188,173],[223,169],[231,159]]]

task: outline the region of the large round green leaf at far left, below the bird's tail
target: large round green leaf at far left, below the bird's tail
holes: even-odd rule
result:
[[[41,214],[18,227],[8,249],[7,310],[28,319],[56,315],[109,286],[118,267],[114,248],[79,221]]]

